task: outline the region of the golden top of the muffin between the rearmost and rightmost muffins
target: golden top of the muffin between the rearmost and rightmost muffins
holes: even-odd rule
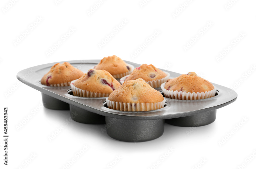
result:
[[[167,76],[166,73],[156,68],[155,66],[143,64],[143,65],[140,65],[140,67],[136,67],[133,70],[133,72],[124,81],[141,78],[146,82],[148,82],[152,80],[158,80],[166,76]]]

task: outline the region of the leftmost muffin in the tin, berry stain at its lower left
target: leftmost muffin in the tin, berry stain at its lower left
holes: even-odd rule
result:
[[[72,80],[78,79],[83,72],[74,68],[70,63],[56,63],[41,79],[41,84],[47,86],[70,86]]]

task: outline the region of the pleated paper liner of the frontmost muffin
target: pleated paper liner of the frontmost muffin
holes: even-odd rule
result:
[[[106,98],[108,108],[121,111],[148,111],[164,107],[165,99],[162,102],[155,103],[122,103],[110,101]]]

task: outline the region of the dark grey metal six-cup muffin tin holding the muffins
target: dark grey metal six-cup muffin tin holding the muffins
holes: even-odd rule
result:
[[[63,61],[64,62],[64,61]],[[100,60],[67,61],[84,73]],[[125,61],[134,67],[140,64]],[[87,124],[105,124],[102,130],[114,139],[127,142],[142,142],[160,137],[164,132],[164,123],[193,127],[207,125],[215,121],[218,108],[237,99],[237,93],[229,88],[212,83],[217,87],[214,97],[201,100],[175,100],[165,98],[165,106],[151,111],[119,111],[109,109],[106,97],[87,98],[73,96],[71,87],[50,87],[40,83],[52,65],[48,63],[24,69],[17,74],[18,80],[42,93],[42,102],[46,108],[56,110],[70,109],[74,121]],[[35,70],[28,78],[22,79],[29,69]],[[166,70],[164,70],[166,71]],[[170,72],[170,78],[181,74]],[[118,79],[119,80],[119,79]],[[156,88],[161,91],[161,88]]]

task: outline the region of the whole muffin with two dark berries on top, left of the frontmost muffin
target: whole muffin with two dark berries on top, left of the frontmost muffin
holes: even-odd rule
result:
[[[121,84],[105,70],[90,69],[70,86],[74,96],[107,97]]]

